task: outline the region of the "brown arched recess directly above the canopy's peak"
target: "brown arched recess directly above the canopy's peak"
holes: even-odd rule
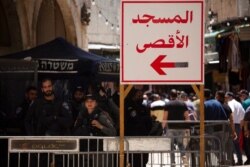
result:
[[[77,44],[73,10],[77,11],[66,0],[36,0],[32,21],[33,45],[47,42],[58,36]]]

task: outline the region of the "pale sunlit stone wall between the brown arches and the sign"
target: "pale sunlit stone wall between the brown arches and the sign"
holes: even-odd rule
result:
[[[95,0],[95,4],[90,5],[90,11],[89,43],[120,45],[120,0]]]

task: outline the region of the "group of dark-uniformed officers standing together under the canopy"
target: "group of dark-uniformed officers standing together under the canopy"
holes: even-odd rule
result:
[[[108,98],[102,97],[101,93],[86,94],[82,87],[76,87],[72,99],[68,102],[62,101],[55,96],[53,82],[50,79],[42,80],[41,92],[42,97],[37,98],[37,89],[27,88],[26,98],[16,110],[20,125],[22,125],[20,126],[21,135],[75,135],[79,133],[80,127],[81,135],[85,136],[115,136],[117,134],[115,123],[109,116],[112,112],[108,113],[104,110],[107,108],[104,105]],[[118,114],[118,107],[114,110]]]

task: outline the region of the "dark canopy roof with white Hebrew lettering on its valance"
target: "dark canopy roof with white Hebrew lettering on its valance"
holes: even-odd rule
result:
[[[49,74],[50,77],[67,78],[78,75],[97,80],[119,79],[118,61],[86,52],[63,38],[0,58],[37,62],[38,76]]]

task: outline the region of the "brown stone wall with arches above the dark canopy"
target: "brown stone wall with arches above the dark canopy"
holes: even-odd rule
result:
[[[59,36],[86,50],[87,25],[81,23],[80,10],[89,1],[0,0],[11,38],[10,46],[0,46],[0,55],[32,48]]]

